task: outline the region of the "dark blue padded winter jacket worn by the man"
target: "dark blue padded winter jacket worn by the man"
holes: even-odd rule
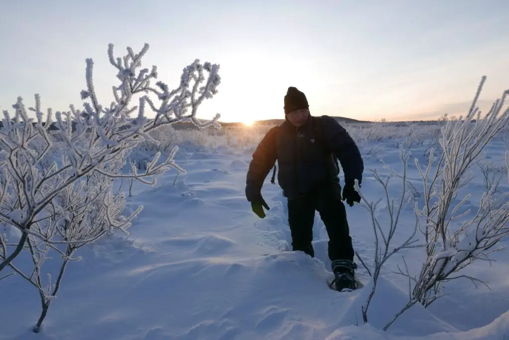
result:
[[[321,138],[313,127],[311,116],[302,127],[286,120],[273,127],[264,136],[252,154],[246,176],[248,201],[260,195],[263,182],[277,160],[277,181],[283,195],[297,198],[312,189],[330,182],[338,182],[339,169],[332,157],[335,154],[345,181],[362,181],[364,164],[359,148],[348,132],[329,116],[321,119]]]

